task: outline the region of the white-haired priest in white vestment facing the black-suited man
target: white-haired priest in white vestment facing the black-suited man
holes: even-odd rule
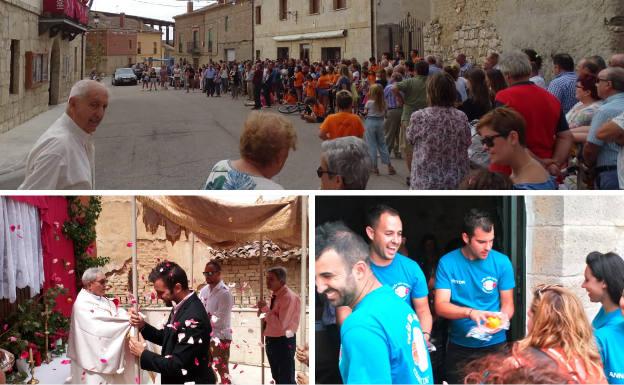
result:
[[[106,276],[98,268],[82,276],[72,308],[67,356],[73,384],[134,384],[134,356],[128,351],[128,313],[106,298]]]

